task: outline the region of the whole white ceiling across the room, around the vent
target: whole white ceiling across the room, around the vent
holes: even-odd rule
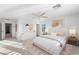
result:
[[[0,17],[19,17],[38,11],[47,12],[49,17],[79,14],[78,4],[65,4],[58,9],[52,6],[53,4],[0,4]]]

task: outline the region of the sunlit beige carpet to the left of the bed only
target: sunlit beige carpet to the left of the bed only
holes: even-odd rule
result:
[[[16,40],[0,41],[0,55],[48,55],[46,51],[24,43]]]

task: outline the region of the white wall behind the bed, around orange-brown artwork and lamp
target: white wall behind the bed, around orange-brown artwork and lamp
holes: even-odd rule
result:
[[[60,17],[58,17],[58,18],[60,18]],[[56,19],[58,19],[58,18],[56,18]],[[78,34],[77,37],[79,37],[79,31],[78,31],[79,30],[79,15],[64,16],[62,26],[58,27],[58,28],[53,28],[51,26],[51,24],[52,24],[52,21],[56,20],[56,19],[52,19],[49,23],[50,24],[50,33],[52,33],[52,32],[65,32],[65,35],[68,36],[69,29],[75,28],[77,31],[77,34]]]

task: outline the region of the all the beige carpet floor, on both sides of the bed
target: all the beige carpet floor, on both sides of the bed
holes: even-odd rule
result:
[[[28,42],[31,43],[31,42]],[[0,41],[0,55],[50,55],[37,46],[18,40]],[[79,55],[79,47],[66,45],[66,48],[60,55]]]

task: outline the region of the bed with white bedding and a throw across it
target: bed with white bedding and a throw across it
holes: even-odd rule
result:
[[[59,55],[66,44],[66,37],[39,36],[33,39],[33,44],[53,55]]]

